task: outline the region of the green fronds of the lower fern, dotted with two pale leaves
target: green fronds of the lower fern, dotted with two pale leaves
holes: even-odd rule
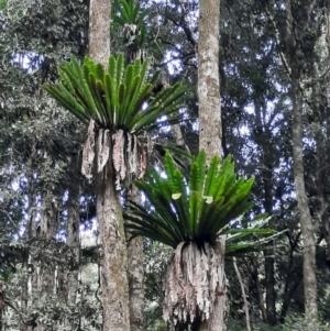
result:
[[[215,156],[206,170],[206,154],[200,152],[193,159],[188,178],[176,167],[169,153],[166,153],[164,164],[166,178],[162,178],[152,169],[147,173],[145,181],[136,183],[154,211],[131,206],[131,209],[124,212],[124,217],[131,214],[130,220],[139,224],[139,231],[136,227],[128,224],[135,233],[154,240],[157,238],[173,247],[180,242],[191,241],[197,244],[216,244],[217,238],[226,234],[230,235],[230,254],[251,251],[255,245],[251,242],[245,244],[251,238],[255,243],[258,239],[274,234],[270,229],[231,229],[232,221],[238,223],[242,214],[253,207],[249,199],[253,179],[237,178],[231,156],[221,164],[219,156]],[[135,211],[139,216],[138,222],[132,219]],[[260,220],[265,219],[265,214],[260,216],[257,224],[263,224]]]

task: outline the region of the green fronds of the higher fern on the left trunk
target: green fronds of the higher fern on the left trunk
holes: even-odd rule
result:
[[[162,115],[177,112],[184,101],[185,87],[176,84],[153,93],[155,80],[148,80],[151,60],[140,60],[125,66],[124,57],[110,56],[108,69],[85,57],[82,65],[72,56],[69,63],[58,68],[61,82],[45,89],[74,115],[85,123],[94,119],[97,128],[111,132],[124,130],[139,134],[160,128]],[[61,86],[61,87],[59,87]],[[57,92],[54,92],[54,90]],[[158,100],[156,104],[154,100]],[[170,118],[170,121],[177,118]]]

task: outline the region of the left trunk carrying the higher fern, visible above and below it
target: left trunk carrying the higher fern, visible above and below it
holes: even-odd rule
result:
[[[110,56],[111,1],[91,0],[89,56],[106,68]],[[122,209],[114,188],[112,159],[97,174],[97,218],[101,236],[101,287],[105,331],[129,331],[128,250]]]

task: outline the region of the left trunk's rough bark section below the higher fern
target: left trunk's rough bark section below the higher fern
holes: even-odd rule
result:
[[[97,217],[100,227],[103,330],[130,330],[128,251],[122,210],[114,188],[112,162],[97,174]]]

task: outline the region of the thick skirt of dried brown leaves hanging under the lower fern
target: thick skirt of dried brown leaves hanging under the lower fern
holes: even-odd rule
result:
[[[208,320],[212,313],[217,296],[224,291],[219,288],[224,277],[220,268],[223,255],[216,250],[208,243],[204,249],[194,242],[177,246],[163,285],[163,317],[173,327],[191,323],[197,316]]]

